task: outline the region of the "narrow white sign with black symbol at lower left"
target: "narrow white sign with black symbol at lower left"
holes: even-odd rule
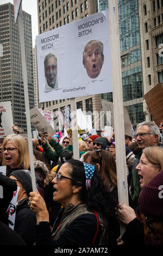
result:
[[[14,191],[14,196],[12,197],[12,200],[10,202],[10,205],[8,207],[8,215],[9,215],[9,227],[14,230],[14,225],[15,225],[15,216],[16,216],[16,205],[17,205],[17,196],[18,196],[18,191],[20,190],[20,187],[17,187],[17,190]]]

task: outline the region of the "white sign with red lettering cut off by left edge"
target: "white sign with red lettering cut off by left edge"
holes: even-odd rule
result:
[[[11,101],[0,102],[0,137],[13,133],[12,125]]]

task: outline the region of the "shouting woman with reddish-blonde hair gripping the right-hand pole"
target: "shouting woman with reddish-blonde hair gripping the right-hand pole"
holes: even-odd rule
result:
[[[163,170],[163,149],[161,147],[148,147],[143,149],[140,163],[136,166],[140,176],[140,187],[147,186],[149,182]],[[141,199],[141,192],[139,200]],[[151,205],[152,207],[152,205]],[[126,245],[157,245],[159,241],[155,240],[153,233],[148,229],[145,216],[140,208],[136,214],[133,208],[119,204],[117,206],[117,217],[126,225],[126,231],[118,239],[118,244]]]

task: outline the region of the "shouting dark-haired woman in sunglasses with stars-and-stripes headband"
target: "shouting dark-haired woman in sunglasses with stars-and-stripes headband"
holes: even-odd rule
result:
[[[53,199],[64,208],[51,230],[45,202],[39,193],[30,193],[30,209],[36,213],[36,245],[91,246],[115,244],[111,230],[115,223],[115,202],[92,164],[68,160],[53,179]],[[110,222],[106,220],[109,216]]]

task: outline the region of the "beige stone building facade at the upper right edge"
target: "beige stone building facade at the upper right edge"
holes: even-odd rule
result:
[[[163,82],[163,1],[139,0],[142,74],[144,93]],[[162,45],[161,45],[162,44]],[[146,120],[151,120],[143,102]]]

